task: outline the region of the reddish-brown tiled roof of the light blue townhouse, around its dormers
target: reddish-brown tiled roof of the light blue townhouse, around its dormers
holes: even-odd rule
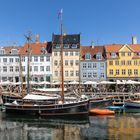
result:
[[[81,46],[80,47],[80,54],[81,54],[81,57],[82,59],[85,59],[85,55],[87,53],[90,53],[91,55],[91,60],[95,60],[96,58],[96,54],[97,53],[102,53],[102,56],[104,57],[104,46],[94,46],[92,48],[92,46]]]

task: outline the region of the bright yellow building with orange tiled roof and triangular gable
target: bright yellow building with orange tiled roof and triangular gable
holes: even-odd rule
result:
[[[140,80],[140,44],[106,45],[107,79]]]

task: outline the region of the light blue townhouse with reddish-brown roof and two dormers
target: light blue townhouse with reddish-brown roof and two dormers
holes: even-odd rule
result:
[[[80,47],[80,81],[106,80],[104,46]]]

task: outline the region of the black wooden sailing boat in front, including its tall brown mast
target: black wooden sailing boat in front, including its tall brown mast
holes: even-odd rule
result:
[[[30,37],[28,37],[30,39]],[[62,76],[62,92],[61,100],[56,100],[55,103],[47,104],[47,101],[42,104],[29,103],[27,100],[24,100],[20,103],[6,103],[6,112],[12,113],[23,113],[31,115],[40,115],[40,116],[67,116],[75,117],[81,115],[82,117],[88,116],[88,100],[75,100],[75,101],[65,101],[64,98],[64,71],[63,71],[63,32],[62,32],[62,12],[61,12],[61,76]],[[28,40],[29,41],[29,40]],[[28,58],[29,59],[29,58]],[[29,76],[29,75],[28,75]],[[29,80],[29,78],[28,78]],[[29,92],[29,82],[28,82],[28,92]]]

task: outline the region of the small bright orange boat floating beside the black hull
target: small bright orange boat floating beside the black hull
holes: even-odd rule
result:
[[[114,115],[115,112],[109,109],[91,109],[89,111],[91,115]]]

